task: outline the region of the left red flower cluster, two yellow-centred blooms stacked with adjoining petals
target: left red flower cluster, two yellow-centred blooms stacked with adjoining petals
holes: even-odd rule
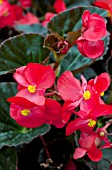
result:
[[[46,89],[55,80],[55,72],[51,66],[29,63],[16,69],[14,79],[18,83],[19,92],[8,99],[11,102],[10,115],[21,126],[35,128],[42,124],[53,124],[57,128],[64,126],[62,106],[53,99],[45,98]],[[69,112],[69,111],[67,111]]]

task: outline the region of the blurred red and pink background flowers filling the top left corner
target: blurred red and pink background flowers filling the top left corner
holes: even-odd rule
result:
[[[20,1],[22,7],[27,8],[31,5],[31,0]],[[7,0],[0,1],[0,28],[6,26],[14,27],[18,24],[39,23],[38,18],[32,13],[24,14],[21,6],[12,5]]]

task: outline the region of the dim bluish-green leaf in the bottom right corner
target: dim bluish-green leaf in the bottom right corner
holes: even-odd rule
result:
[[[86,161],[86,165],[92,170],[109,170],[110,162],[112,162],[112,149],[103,149],[103,158],[101,161]]]

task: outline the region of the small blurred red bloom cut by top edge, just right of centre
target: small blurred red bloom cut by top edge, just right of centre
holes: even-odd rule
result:
[[[55,0],[55,3],[53,6],[54,6],[56,13],[60,13],[66,10],[66,4],[64,3],[63,0]]]

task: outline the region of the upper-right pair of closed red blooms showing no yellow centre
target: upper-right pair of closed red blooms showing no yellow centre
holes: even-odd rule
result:
[[[86,10],[82,16],[82,35],[77,39],[80,53],[88,58],[95,59],[104,52],[104,42],[101,40],[106,35],[106,22],[100,15]]]

